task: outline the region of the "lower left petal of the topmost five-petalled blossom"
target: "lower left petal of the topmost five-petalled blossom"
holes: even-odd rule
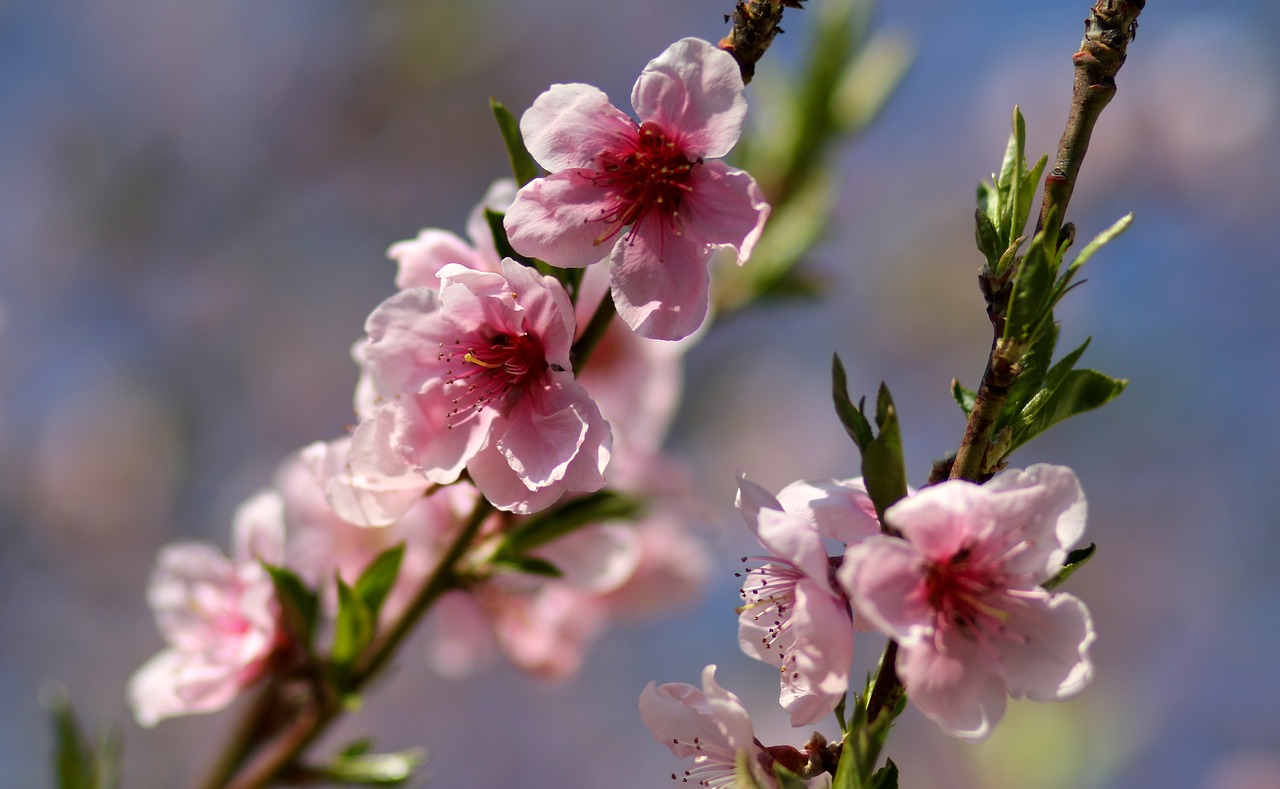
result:
[[[614,236],[602,218],[614,199],[590,175],[591,170],[561,170],[525,184],[503,219],[511,246],[559,268],[580,269],[604,259]]]

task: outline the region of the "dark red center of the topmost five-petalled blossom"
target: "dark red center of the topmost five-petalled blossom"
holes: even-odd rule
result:
[[[612,205],[596,218],[607,229],[595,243],[612,238],[628,224],[634,236],[650,214],[668,232],[680,236],[680,206],[685,195],[692,192],[689,177],[701,163],[686,158],[657,123],[641,123],[637,134],[621,149],[600,155],[600,169],[590,175],[594,186],[612,192]]]

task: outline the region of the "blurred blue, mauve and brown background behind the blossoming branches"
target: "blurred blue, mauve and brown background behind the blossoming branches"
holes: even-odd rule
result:
[[[612,631],[561,684],[445,681],[411,647],[332,742],[425,744],[433,786],[660,786],[676,761],[636,697],[709,662],[763,740],[803,742],[773,670],[736,647],[733,565],[754,551],[733,470],[772,489],[856,474],[832,351],[855,394],[891,384],[915,482],[955,448],[947,384],[973,386],[988,343],[973,190],[1014,104],[1030,158],[1055,149],[1088,5],[876,12],[916,59],[832,165],[836,222],[805,264],[824,298],[736,315],[687,359],[672,446],[724,524],[699,606]],[[142,730],[124,704],[161,647],[143,597],[159,547],[225,547],[234,506],[351,421],[348,348],[393,291],[387,246],[460,232],[506,174],[489,96],[518,114],[552,82],[591,82],[626,106],[650,58],[718,40],[731,10],[0,0],[0,786],[51,785],[37,697],[54,680],[122,728],[127,786],[207,767],[228,713]],[[762,81],[799,58],[812,15],[787,13]],[[1070,703],[1014,704],[977,748],[909,711],[890,747],[904,789],[1280,786],[1277,36],[1272,0],[1142,17],[1069,215],[1083,237],[1137,222],[1059,310],[1061,346],[1093,336],[1085,366],[1132,383],[1015,456],[1073,466],[1089,496],[1100,551],[1068,588],[1093,610],[1097,679]],[[855,676],[879,648],[860,642]]]

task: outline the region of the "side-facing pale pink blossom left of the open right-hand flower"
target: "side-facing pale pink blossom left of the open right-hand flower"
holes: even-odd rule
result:
[[[792,483],[774,498],[741,475],[737,505],[769,551],[742,579],[739,646],[778,667],[780,702],[792,726],[806,726],[845,697],[854,653],[849,603],[823,538],[851,543],[877,533],[874,508],[868,515],[860,480]]]

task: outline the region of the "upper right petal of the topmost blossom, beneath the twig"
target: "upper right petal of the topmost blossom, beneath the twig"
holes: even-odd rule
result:
[[[681,38],[640,73],[631,106],[641,120],[677,136],[690,159],[718,159],[742,133],[746,94],[732,55],[700,38]]]

